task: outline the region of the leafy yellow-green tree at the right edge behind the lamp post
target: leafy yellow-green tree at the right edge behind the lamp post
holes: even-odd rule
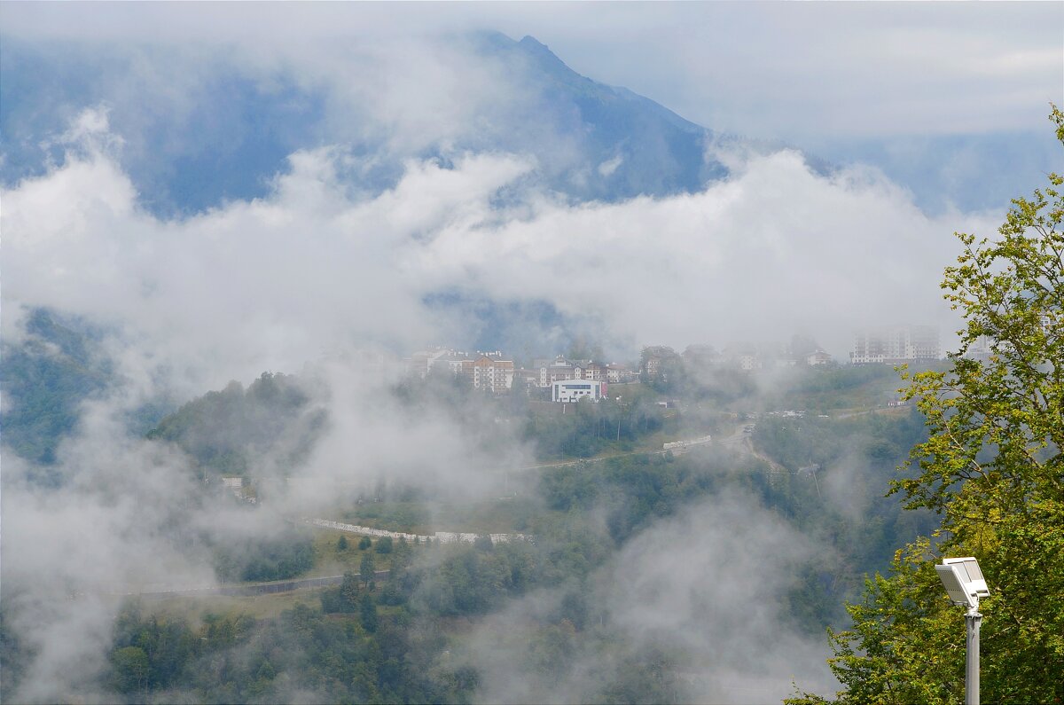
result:
[[[1053,106],[1064,145],[1064,114]],[[853,626],[829,633],[841,702],[950,703],[964,694],[963,610],[934,563],[975,556],[982,601],[986,702],[1064,701],[1064,177],[1013,201],[1000,236],[959,234],[945,297],[965,319],[949,372],[911,378],[927,442],[914,476],[892,492],[927,507],[940,528],[896,555],[847,607]],[[977,348],[987,355],[969,355]],[[820,699],[808,693],[792,702]]]

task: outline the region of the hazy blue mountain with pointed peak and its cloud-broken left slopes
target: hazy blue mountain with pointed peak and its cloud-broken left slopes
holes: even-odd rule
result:
[[[150,95],[143,104],[123,104],[115,93],[122,82],[100,78],[104,69],[122,70],[120,54],[111,49],[72,47],[51,54],[5,42],[0,45],[5,66],[0,181],[13,185],[40,174],[49,162],[61,163],[62,145],[49,135],[64,133],[77,111],[98,105],[109,106],[111,128],[126,143],[118,159],[142,204],[161,216],[267,196],[272,177],[288,168],[288,154],[337,142],[371,164],[344,175],[363,193],[393,186],[411,157],[438,158],[446,164],[461,151],[532,155],[537,168],[523,183],[548,187],[573,202],[691,193],[728,176],[722,163],[705,158],[706,146],[738,138],[685,120],[627,88],[581,76],[532,36],[517,42],[480,32],[453,44],[502,78],[502,84],[492,86],[499,95],[483,114],[477,113],[475,124],[403,154],[376,142],[380,135],[373,130],[362,130],[359,120],[365,116],[351,116],[352,122],[335,132],[335,115],[328,115],[321,88],[290,77],[278,76],[263,85],[239,67],[227,66],[204,75],[178,114],[164,98]],[[41,94],[34,78],[39,76],[60,80]]]

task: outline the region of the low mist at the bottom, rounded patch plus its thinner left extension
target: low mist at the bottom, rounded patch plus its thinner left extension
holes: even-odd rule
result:
[[[592,577],[582,639],[567,621],[531,643],[513,638],[572,599],[537,592],[485,619],[455,658],[481,669],[484,702],[596,702],[654,678],[679,702],[778,702],[795,678],[827,693],[835,684],[822,640],[794,630],[783,599],[797,568],[824,550],[752,496],[714,495],[642,531]],[[653,670],[665,659],[675,676]]]

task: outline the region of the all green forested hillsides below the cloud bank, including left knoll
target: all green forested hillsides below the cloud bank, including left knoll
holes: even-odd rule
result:
[[[77,346],[71,351],[89,359]],[[63,404],[105,382],[78,370],[83,377],[70,377],[82,380],[76,393],[55,395],[67,399]],[[223,583],[320,575],[335,567],[347,575],[338,586],[304,591],[294,606],[265,613],[197,608],[194,600],[173,611],[133,600],[115,622],[95,687],[129,702],[471,702],[486,677],[477,656],[481,644],[470,640],[476,633],[519,657],[515,673],[531,684],[528,698],[547,696],[553,675],[578,678],[577,655],[597,654],[581,699],[680,702],[689,693],[679,675],[693,668],[688,656],[661,642],[626,645],[622,625],[593,599],[596,581],[616,570],[626,546],[649,528],[735,493],[821,546],[779,597],[786,628],[815,636],[845,626],[845,601],[859,594],[864,575],[883,570],[899,545],[929,528],[927,513],[904,512],[883,496],[908,448],[926,439],[918,412],[883,407],[895,398],[896,374],[786,371],[774,377],[766,396],[736,371],[699,380],[697,368],[688,372],[689,383],[615,386],[610,399],[569,405],[565,413],[523,392],[481,395],[450,376],[401,382],[390,392],[410,413],[452,409],[462,419],[463,410],[483,411],[470,414],[471,426],[485,416],[509,419],[516,423],[508,425],[506,442],[528,444],[543,461],[566,462],[522,471],[505,497],[443,502],[423,488],[393,482],[376,488],[373,501],[340,507],[333,517],[397,531],[482,532],[472,544],[322,540],[295,525],[269,536],[193,532],[210,547]],[[55,376],[57,384],[70,373],[61,366],[40,374]],[[38,380],[18,392],[48,398],[55,384]],[[814,400],[847,413],[764,413]],[[63,408],[69,431],[76,407]],[[264,373],[246,389],[232,382],[184,404],[153,423],[146,438],[180,448],[197,477],[237,475],[253,486],[265,458],[298,472],[328,430],[322,408],[305,380]],[[753,432],[738,435],[753,417]],[[662,442],[706,433],[741,442],[661,453]],[[489,442],[498,441],[485,447]],[[203,492],[216,495],[212,486]],[[262,509],[244,504],[238,511]],[[530,539],[493,543],[491,531]],[[380,570],[387,576],[376,576]],[[527,600],[546,606],[504,628],[493,626]],[[0,649],[10,700],[33,646],[0,624]]]

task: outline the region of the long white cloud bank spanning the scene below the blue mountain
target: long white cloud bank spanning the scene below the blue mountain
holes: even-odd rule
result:
[[[868,322],[951,329],[937,293],[949,233],[990,230],[924,215],[874,171],[817,176],[792,152],[697,194],[571,207],[541,191],[497,200],[534,168],[528,154],[411,161],[394,188],[360,198],[342,147],[293,154],[267,198],[160,220],[138,208],[106,125],[84,113],[62,165],[3,192],[9,311],[121,326],[171,365],[211,370],[198,390],[323,350],[461,345],[468,322],[423,304],[444,291],[549,302],[596,322],[615,354],[800,329],[843,357]]]

